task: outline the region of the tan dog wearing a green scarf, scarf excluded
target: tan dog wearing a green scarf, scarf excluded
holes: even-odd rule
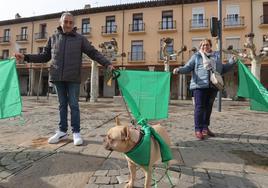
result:
[[[134,148],[140,140],[140,131],[131,128],[128,125],[121,125],[119,119],[116,118],[115,127],[111,128],[106,138],[104,139],[104,147],[107,150],[118,151],[121,153],[126,153]],[[170,146],[170,138],[167,131],[161,127],[159,124],[152,126],[155,131],[163,138],[163,140]],[[134,180],[136,177],[136,167],[139,166],[135,164],[130,158],[125,156],[128,162],[128,168],[130,171],[129,181],[125,188],[132,188],[134,186]],[[161,158],[160,148],[158,143],[151,138],[151,153],[150,153],[150,163],[148,168],[140,166],[145,174],[144,188],[151,187],[152,179],[152,166],[153,164]]]

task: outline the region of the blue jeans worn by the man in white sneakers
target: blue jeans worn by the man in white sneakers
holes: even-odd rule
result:
[[[60,122],[59,130],[67,132],[68,130],[68,105],[71,109],[71,127],[73,133],[80,132],[80,110],[79,110],[79,92],[80,83],[75,82],[54,82],[59,100]]]

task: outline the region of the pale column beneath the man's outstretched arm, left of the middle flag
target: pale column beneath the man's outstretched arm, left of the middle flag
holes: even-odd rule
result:
[[[91,61],[91,85],[89,102],[97,102],[99,92],[99,68],[95,61]]]

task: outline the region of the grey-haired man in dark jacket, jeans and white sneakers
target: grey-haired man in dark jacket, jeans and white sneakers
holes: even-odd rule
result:
[[[60,122],[59,130],[48,139],[50,144],[67,139],[68,105],[71,109],[74,145],[83,144],[80,135],[80,110],[78,103],[82,53],[87,54],[91,59],[106,68],[114,69],[112,64],[84,36],[76,33],[73,15],[65,12],[61,15],[60,26],[57,28],[57,32],[49,38],[44,52],[40,54],[15,54],[17,60],[34,63],[48,62],[51,59],[50,81],[57,89]]]

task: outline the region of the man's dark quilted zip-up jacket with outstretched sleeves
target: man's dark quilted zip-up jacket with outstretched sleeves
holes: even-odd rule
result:
[[[90,44],[84,37],[76,33],[63,33],[62,28],[57,28],[42,53],[26,54],[25,61],[44,63],[51,59],[50,81],[81,82],[82,53],[87,54],[92,60],[107,67],[111,63]]]

